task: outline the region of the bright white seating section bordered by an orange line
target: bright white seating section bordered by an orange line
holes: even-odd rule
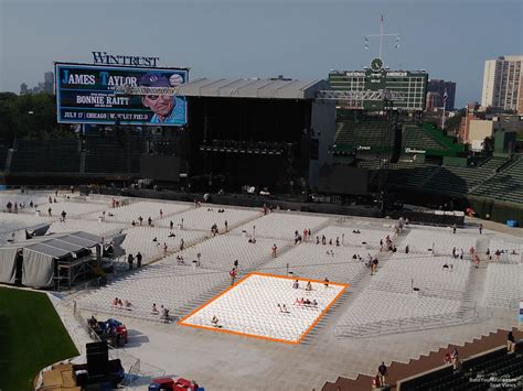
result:
[[[250,273],[179,325],[299,344],[348,284]]]

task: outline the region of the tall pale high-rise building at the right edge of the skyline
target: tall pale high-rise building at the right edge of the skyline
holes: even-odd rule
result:
[[[523,113],[523,56],[484,62],[481,106]]]

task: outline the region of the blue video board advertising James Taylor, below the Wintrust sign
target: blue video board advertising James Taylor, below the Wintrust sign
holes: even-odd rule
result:
[[[186,99],[177,95],[186,68],[56,63],[55,75],[60,123],[186,123]]]

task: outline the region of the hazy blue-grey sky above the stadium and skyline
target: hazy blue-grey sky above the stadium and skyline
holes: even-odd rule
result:
[[[522,0],[0,0],[0,91],[92,51],[158,56],[192,78],[327,78],[377,53],[363,35],[381,14],[402,34],[385,64],[456,82],[458,106],[480,100],[485,59],[523,54]]]

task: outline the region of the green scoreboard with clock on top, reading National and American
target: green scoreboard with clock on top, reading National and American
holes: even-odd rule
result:
[[[330,88],[343,91],[360,91],[354,99],[339,101],[339,106],[370,111],[383,110],[383,101],[366,100],[364,91],[387,89],[402,93],[402,99],[395,99],[393,107],[399,110],[421,111],[425,109],[428,74],[425,70],[389,70],[383,67],[381,58],[373,58],[371,66],[363,70],[331,70]]]

